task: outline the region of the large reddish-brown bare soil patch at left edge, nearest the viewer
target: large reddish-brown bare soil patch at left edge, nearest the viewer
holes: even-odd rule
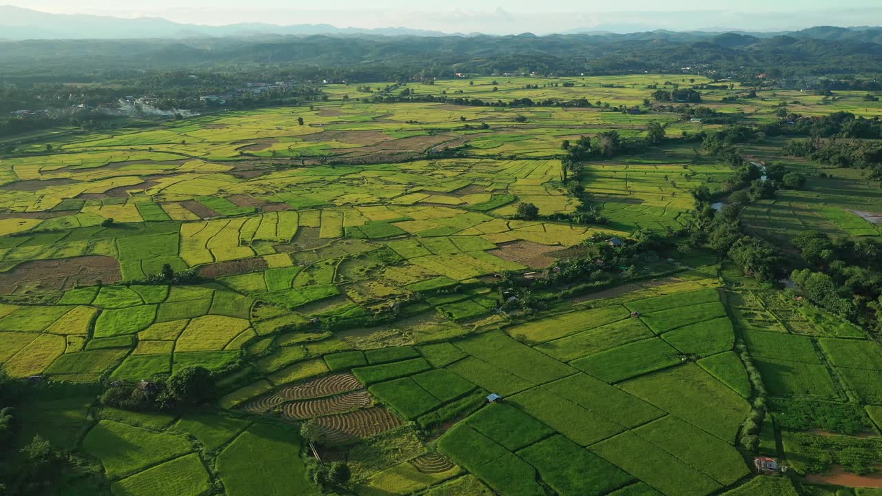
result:
[[[51,292],[91,286],[96,281],[112,284],[123,280],[119,262],[113,257],[87,255],[71,259],[31,260],[0,273],[0,295],[19,289]]]

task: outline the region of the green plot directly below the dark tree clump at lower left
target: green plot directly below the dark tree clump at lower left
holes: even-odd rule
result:
[[[192,451],[183,437],[101,420],[83,440],[83,450],[101,460],[110,478],[122,477]]]

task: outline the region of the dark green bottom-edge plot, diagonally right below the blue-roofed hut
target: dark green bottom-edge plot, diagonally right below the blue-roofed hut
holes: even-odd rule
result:
[[[563,436],[552,436],[518,452],[560,496],[599,496],[634,478]]]

